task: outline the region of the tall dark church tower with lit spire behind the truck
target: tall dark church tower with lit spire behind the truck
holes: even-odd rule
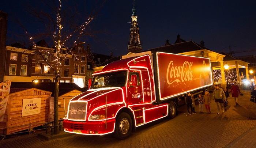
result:
[[[130,39],[128,43],[128,52],[140,52],[142,50],[141,42],[140,42],[140,35],[139,35],[139,26],[137,22],[138,16],[136,16],[136,9],[133,0],[133,8],[132,8],[132,24],[130,29]]]

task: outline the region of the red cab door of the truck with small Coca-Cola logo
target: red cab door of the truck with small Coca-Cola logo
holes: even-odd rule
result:
[[[139,72],[129,72],[128,98],[132,104],[143,102],[143,91]]]

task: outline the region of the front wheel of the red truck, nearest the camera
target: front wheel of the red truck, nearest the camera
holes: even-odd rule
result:
[[[129,114],[121,113],[116,119],[114,137],[125,139],[132,131],[132,119]]]

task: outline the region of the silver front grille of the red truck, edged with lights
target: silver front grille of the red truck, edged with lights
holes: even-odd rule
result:
[[[69,102],[68,119],[86,120],[86,102]]]

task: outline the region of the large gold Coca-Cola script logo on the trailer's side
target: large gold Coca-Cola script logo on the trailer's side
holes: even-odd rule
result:
[[[174,82],[178,83],[181,81],[184,82],[193,80],[193,71],[191,71],[193,62],[185,61],[182,66],[175,66],[173,64],[174,62],[170,61],[166,71],[166,80],[169,85]]]

